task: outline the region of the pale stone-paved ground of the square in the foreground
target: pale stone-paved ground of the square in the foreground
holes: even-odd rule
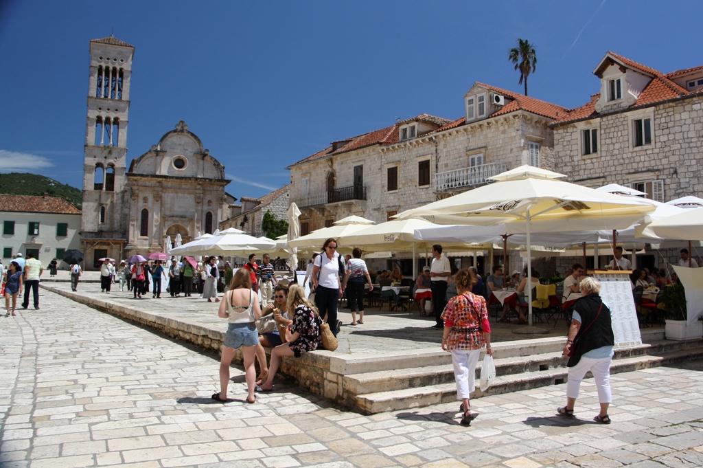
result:
[[[555,416],[565,386],[363,416],[278,384],[243,403],[217,390],[217,357],[54,293],[0,318],[0,466],[12,467],[699,467],[703,363],[612,376],[613,424]]]

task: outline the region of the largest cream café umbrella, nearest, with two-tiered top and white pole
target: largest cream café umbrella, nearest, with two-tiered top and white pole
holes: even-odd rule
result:
[[[439,214],[463,217],[462,224],[505,223],[508,229],[522,225],[529,251],[533,223],[536,232],[624,229],[654,210],[642,198],[608,194],[558,181],[557,177],[565,176],[524,165],[491,177],[491,180],[500,182],[407,210],[398,217]],[[528,255],[527,277],[531,277],[531,268],[531,255]],[[527,303],[531,325],[531,289],[528,289]]]

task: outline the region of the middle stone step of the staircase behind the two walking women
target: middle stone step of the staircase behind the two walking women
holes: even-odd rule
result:
[[[560,343],[564,343],[563,339]],[[498,346],[498,345],[496,345]],[[703,346],[703,340],[693,341],[654,341],[631,348],[620,348],[616,350],[614,359],[629,358],[651,353],[663,353],[688,348]],[[448,353],[445,353],[448,354]],[[556,367],[565,367],[567,358],[562,355],[562,350],[553,353],[541,353],[529,356],[519,356],[511,358],[496,358],[496,375],[505,376],[510,374],[521,374],[524,372],[544,372]],[[454,381],[454,372],[451,365],[451,355],[449,364],[425,365],[418,367],[408,367],[404,369],[392,369],[373,372],[363,372],[359,374],[345,375],[342,377],[345,390],[361,395],[364,393],[378,393],[382,391],[401,390],[403,388],[418,388],[444,384]],[[479,360],[476,369],[477,377],[480,375],[482,362]]]

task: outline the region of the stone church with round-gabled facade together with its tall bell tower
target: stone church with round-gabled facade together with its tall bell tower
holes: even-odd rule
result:
[[[90,42],[81,250],[87,269],[102,257],[162,251],[164,239],[212,232],[234,202],[224,166],[181,120],[127,170],[129,87],[134,46]]]

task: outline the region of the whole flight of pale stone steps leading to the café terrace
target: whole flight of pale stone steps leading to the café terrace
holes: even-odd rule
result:
[[[643,331],[646,343],[616,350],[611,373],[671,365],[703,357],[703,340],[668,341],[664,330]],[[496,381],[472,398],[536,388],[567,381],[563,337],[494,344]],[[483,354],[482,354],[483,358]],[[481,360],[476,369],[477,382]],[[341,377],[347,404],[364,413],[403,410],[456,401],[451,355],[442,351],[408,356],[384,355],[347,361]],[[588,374],[591,377],[591,374]]]

